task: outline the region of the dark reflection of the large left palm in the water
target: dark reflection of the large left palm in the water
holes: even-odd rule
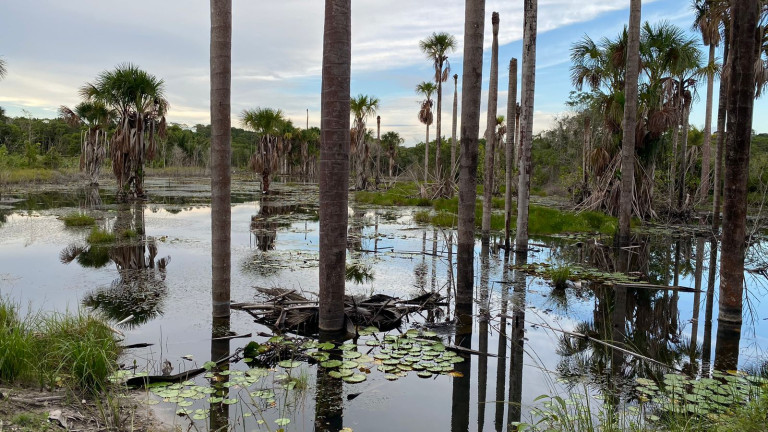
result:
[[[162,315],[170,257],[158,259],[157,242],[146,237],[143,204],[120,208],[112,232],[119,239],[117,243],[70,245],[60,253],[60,259],[65,264],[76,260],[83,267],[95,268],[115,263],[119,277],[109,287],[86,294],[83,304],[116,321],[133,315],[122,324],[133,328]]]

